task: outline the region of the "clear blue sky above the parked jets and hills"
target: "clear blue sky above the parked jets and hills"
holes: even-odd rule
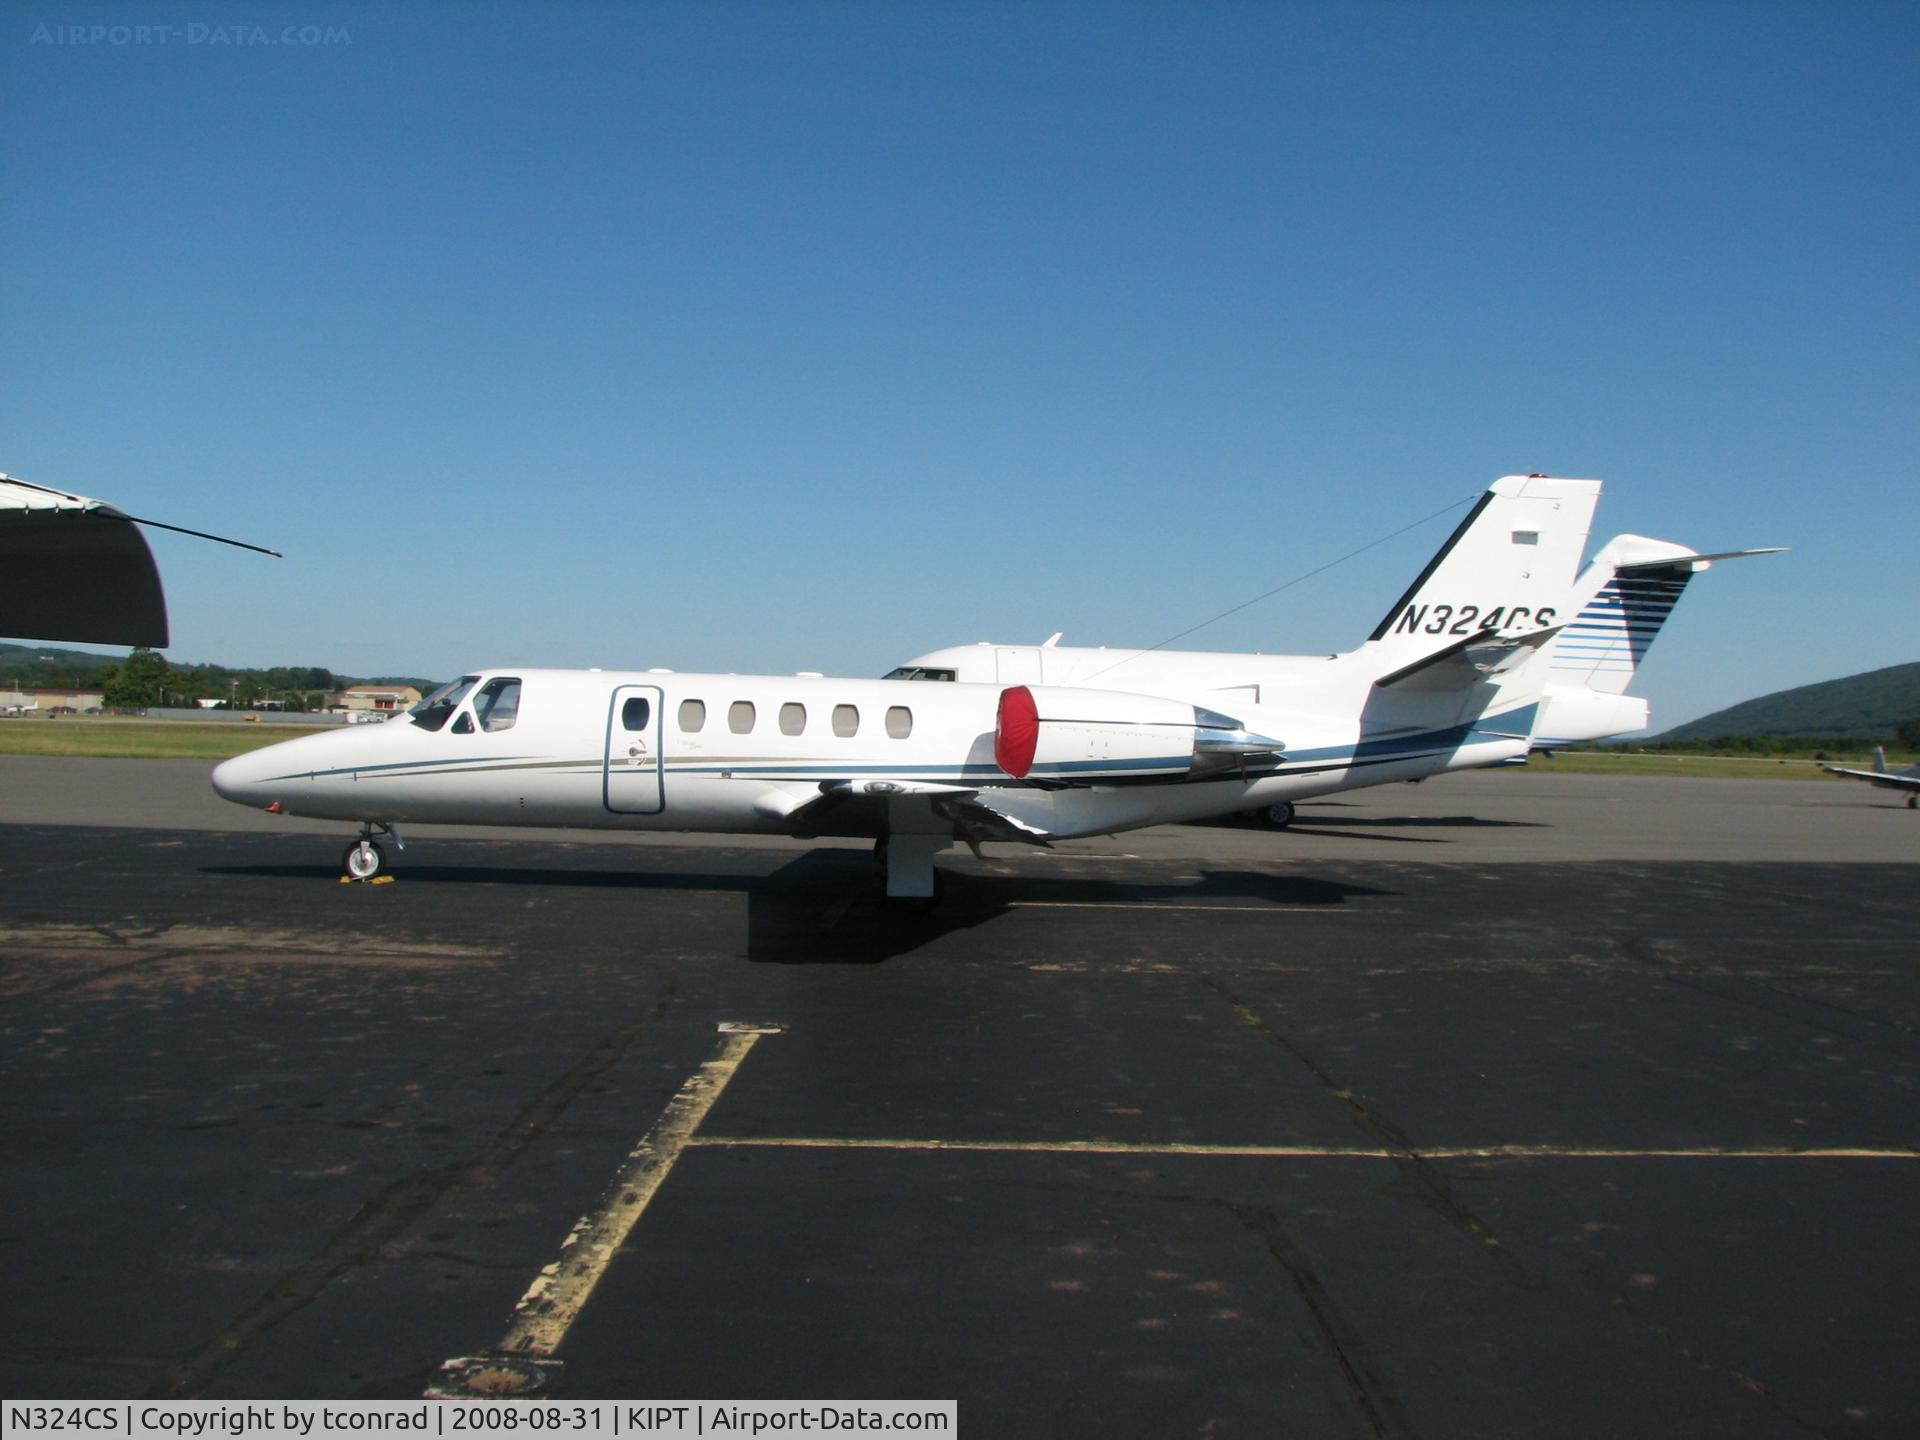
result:
[[[1916,659],[1916,75],[1910,4],[8,4],[0,468],[286,551],[156,534],[175,660],[348,674],[1152,643],[1599,476],[1795,547],[1665,728]],[[1453,518],[1188,643],[1350,647]]]

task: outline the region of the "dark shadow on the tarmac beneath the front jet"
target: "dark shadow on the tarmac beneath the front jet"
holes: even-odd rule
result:
[[[336,883],[321,864],[204,866],[202,874],[248,879]],[[541,885],[620,891],[732,891],[747,897],[747,960],[753,964],[870,966],[931,945],[943,935],[1000,920],[1020,906],[1091,906],[1102,912],[1156,904],[1340,906],[1392,891],[1313,876],[1208,870],[1200,879],[1108,879],[1102,876],[981,876],[941,872],[933,902],[889,900],[872,858],[860,851],[808,851],[772,874],[695,870],[584,870],[576,866],[407,864],[413,885]]]

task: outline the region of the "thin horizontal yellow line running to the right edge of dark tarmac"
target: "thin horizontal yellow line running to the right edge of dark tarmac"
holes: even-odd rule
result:
[[[1905,1146],[1597,1146],[1438,1144],[1382,1150],[1359,1144],[1181,1144],[1152,1140],[904,1140],[828,1135],[695,1135],[689,1146],[728,1150],[945,1150],[1043,1156],[1204,1156],[1235,1160],[1920,1160]]]

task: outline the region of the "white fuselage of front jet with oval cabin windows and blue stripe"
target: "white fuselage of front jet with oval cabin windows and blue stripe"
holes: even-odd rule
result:
[[[897,822],[874,804],[822,814],[812,803],[824,789],[881,801],[887,785],[927,787],[975,791],[1020,831],[995,839],[1041,841],[1233,814],[1526,753],[1524,724],[1492,718],[1363,735],[1356,720],[1240,707],[1233,718],[1248,730],[1284,726],[1284,758],[1267,772],[1185,780],[1192,730],[1142,720],[1094,728],[1079,758],[1050,770],[1043,762],[1016,780],[995,758],[1002,685],[532,668],[468,680],[434,726],[394,716],[284,741],[227,760],[213,785],[242,804],[374,824],[854,835],[885,835]],[[505,724],[497,710],[484,714],[490,687],[513,691]]]

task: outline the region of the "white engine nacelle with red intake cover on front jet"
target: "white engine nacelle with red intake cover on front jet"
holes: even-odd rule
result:
[[[1281,741],[1187,701],[1117,689],[1014,685],[1000,691],[993,758],[1014,780],[1087,785],[1265,772],[1283,756]]]

